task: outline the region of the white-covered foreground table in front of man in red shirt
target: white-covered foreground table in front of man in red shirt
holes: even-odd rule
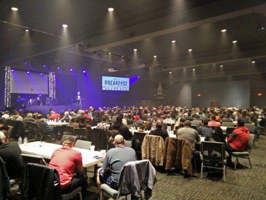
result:
[[[55,149],[62,147],[62,145],[59,144],[47,143],[47,142],[42,142],[42,143],[43,147],[40,147],[40,141],[29,142],[27,143],[27,145],[20,144],[19,147],[22,153],[39,155],[47,159],[51,159],[52,153]],[[81,152],[83,167],[89,167],[104,160],[104,158],[101,159],[93,158],[95,155],[99,155],[99,151],[91,151],[75,147],[73,147],[73,149]]]

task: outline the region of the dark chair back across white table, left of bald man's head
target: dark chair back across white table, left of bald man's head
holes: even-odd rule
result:
[[[109,134],[105,129],[93,128],[91,133],[91,142],[95,148],[107,149]]]

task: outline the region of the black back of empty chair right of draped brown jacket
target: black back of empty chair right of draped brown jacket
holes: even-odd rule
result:
[[[204,161],[224,162],[225,146],[223,142],[202,141],[201,154]]]

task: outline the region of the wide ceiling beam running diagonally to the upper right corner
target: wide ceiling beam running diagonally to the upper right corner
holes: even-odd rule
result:
[[[224,8],[226,4],[231,5],[229,8],[231,11],[228,13],[225,13],[225,10],[228,10]],[[245,8],[239,9],[240,4],[241,7]],[[215,11],[210,11],[213,8],[215,8]],[[266,3],[251,6],[250,2],[247,0],[240,0],[236,2],[232,0],[219,0],[124,29],[92,37],[84,40],[83,42],[84,46],[88,46],[85,51],[92,52],[95,50],[107,49],[118,45],[169,34],[252,12],[261,13],[262,10],[266,10]],[[133,34],[133,36],[130,36],[131,34]]]

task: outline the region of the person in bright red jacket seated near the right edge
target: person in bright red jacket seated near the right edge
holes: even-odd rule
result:
[[[237,128],[233,131],[230,137],[227,139],[226,151],[229,153],[228,165],[232,165],[231,152],[233,151],[245,151],[249,142],[250,131],[245,127],[243,120],[238,120]]]

